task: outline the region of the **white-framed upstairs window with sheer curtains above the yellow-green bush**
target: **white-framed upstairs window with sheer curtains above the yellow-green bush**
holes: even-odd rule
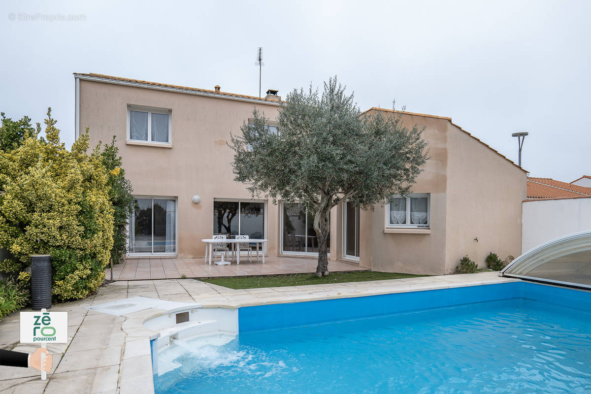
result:
[[[170,109],[127,106],[127,140],[154,145],[171,144]]]

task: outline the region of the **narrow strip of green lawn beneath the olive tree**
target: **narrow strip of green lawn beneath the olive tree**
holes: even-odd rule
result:
[[[332,272],[329,276],[318,278],[310,273],[294,273],[291,275],[265,275],[265,276],[231,276],[230,278],[202,279],[214,285],[229,287],[230,289],[254,289],[259,287],[302,286],[321,285],[327,283],[381,281],[383,279],[417,278],[410,273],[353,271]]]

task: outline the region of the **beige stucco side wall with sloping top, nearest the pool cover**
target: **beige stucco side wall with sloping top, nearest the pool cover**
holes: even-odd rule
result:
[[[525,171],[452,123],[448,142],[446,272],[464,255],[482,268],[490,252],[517,257]]]

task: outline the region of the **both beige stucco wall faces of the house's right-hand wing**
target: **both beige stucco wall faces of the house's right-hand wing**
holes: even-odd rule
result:
[[[426,126],[430,159],[412,192],[430,193],[430,233],[385,233],[385,207],[376,206],[362,213],[362,226],[365,217],[371,230],[362,230],[361,265],[440,275],[453,272],[466,254],[482,267],[491,251],[501,258],[517,256],[525,171],[450,119],[405,114],[403,121],[408,127]]]

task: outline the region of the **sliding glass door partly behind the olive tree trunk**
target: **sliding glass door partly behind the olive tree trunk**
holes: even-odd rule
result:
[[[318,253],[314,214],[303,204],[282,204],[282,227],[282,253]],[[326,243],[330,248],[330,233]]]

